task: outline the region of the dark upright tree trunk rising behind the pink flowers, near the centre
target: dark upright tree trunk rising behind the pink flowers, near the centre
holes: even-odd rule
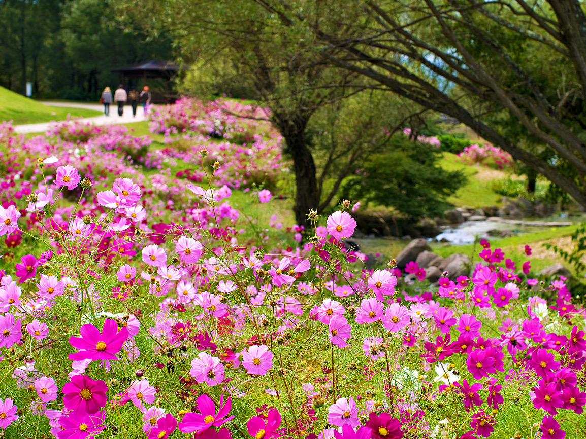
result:
[[[295,220],[297,224],[303,225],[306,230],[309,230],[311,222],[307,214],[309,214],[309,209],[318,209],[319,192],[314,157],[305,143],[305,126],[308,117],[288,117],[288,115],[282,114],[274,116],[293,159],[293,171],[297,185],[295,207],[293,208]]]

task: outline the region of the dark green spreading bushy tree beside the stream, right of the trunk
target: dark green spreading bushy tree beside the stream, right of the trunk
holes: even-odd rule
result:
[[[466,177],[460,171],[442,169],[441,153],[408,140],[391,138],[386,150],[370,156],[342,185],[349,200],[393,207],[404,217],[438,217],[452,205],[447,197],[461,187]]]

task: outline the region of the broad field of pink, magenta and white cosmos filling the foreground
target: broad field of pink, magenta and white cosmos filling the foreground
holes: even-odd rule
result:
[[[228,112],[223,111],[229,110]],[[482,241],[469,276],[365,268],[352,205],[263,224],[282,139],[183,99],[150,136],[0,125],[6,438],[586,435],[586,311]],[[179,166],[182,170],[171,172]]]

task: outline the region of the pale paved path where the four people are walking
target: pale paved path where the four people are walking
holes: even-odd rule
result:
[[[102,104],[82,104],[78,102],[41,102],[42,104],[49,105],[50,107],[69,107],[69,108],[87,108],[95,109],[97,111],[104,112],[104,105]],[[144,121],[144,111],[142,105],[138,105],[137,116],[132,117],[132,107],[130,105],[124,105],[124,113],[122,116],[118,116],[118,105],[110,105],[110,116],[94,116],[91,118],[83,118],[83,121],[91,122],[95,125],[113,125],[113,124],[128,124],[129,122],[140,122]],[[55,122],[45,122],[43,124],[28,124],[28,125],[15,125],[15,131],[17,133],[37,133],[45,132]]]

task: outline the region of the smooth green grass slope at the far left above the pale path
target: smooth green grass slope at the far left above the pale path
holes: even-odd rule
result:
[[[18,93],[0,87],[0,122],[12,121],[13,125],[40,124],[62,121],[71,117],[99,116],[101,111],[85,108],[49,107]]]

